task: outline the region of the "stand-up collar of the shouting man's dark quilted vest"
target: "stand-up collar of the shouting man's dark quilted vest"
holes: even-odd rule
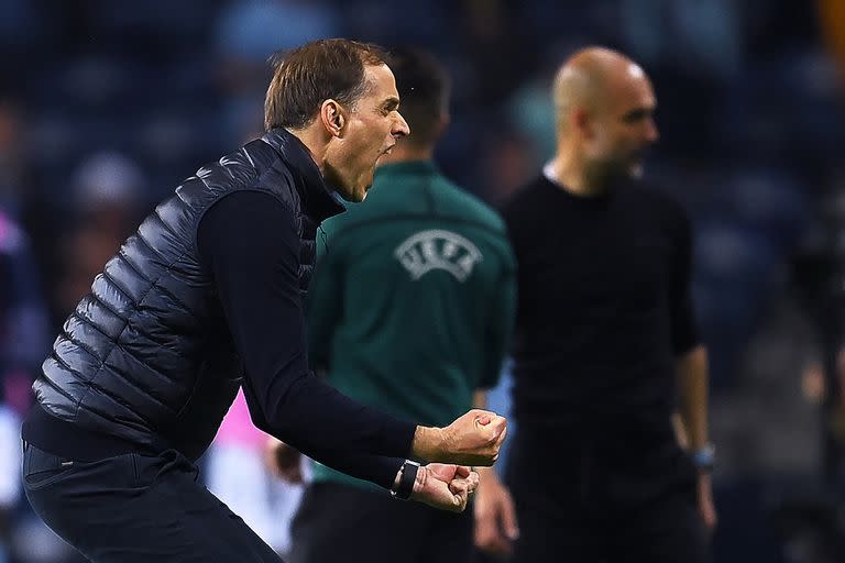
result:
[[[326,186],[317,163],[301,141],[285,129],[271,129],[262,140],[282,156],[295,177],[298,177],[296,189],[303,200],[303,210],[308,217],[319,223],[347,210],[334,192]]]

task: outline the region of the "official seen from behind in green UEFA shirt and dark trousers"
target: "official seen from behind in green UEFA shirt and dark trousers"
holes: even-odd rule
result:
[[[442,427],[483,407],[497,383],[515,317],[515,258],[498,214],[432,161],[449,121],[445,71],[416,51],[396,52],[391,68],[411,133],[382,157],[366,200],[318,234],[309,362],[355,400]],[[320,464],[312,477],[294,519],[293,563],[472,556],[469,510],[400,503]],[[506,549],[513,501],[492,471],[481,473],[474,512],[481,547],[498,540]]]

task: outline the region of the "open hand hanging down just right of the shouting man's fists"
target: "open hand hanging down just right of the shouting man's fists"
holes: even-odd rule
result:
[[[519,538],[514,499],[493,470],[479,471],[475,497],[475,547],[491,555],[509,555]]]

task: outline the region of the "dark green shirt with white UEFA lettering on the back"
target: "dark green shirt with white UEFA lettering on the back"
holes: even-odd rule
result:
[[[341,393],[443,427],[496,385],[516,308],[502,219],[431,162],[381,166],[366,200],[322,225],[308,347]],[[315,482],[369,486],[315,464]]]

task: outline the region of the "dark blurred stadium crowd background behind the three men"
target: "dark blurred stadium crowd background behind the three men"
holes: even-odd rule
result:
[[[31,377],[94,275],[184,177],[260,132],[267,56],[331,36],[420,45],[448,65],[453,123],[438,161],[493,203],[551,156],[548,91],[572,51],[606,45],[646,68],[661,132],[648,174],[696,230],[717,561],[826,561],[839,549],[837,0],[3,0],[0,459],[20,450]],[[254,453],[261,440],[243,435]],[[0,472],[0,562],[76,561],[29,516],[15,464]],[[262,493],[270,510],[295,495],[275,486]],[[284,551],[284,522],[267,519],[256,527]]]

